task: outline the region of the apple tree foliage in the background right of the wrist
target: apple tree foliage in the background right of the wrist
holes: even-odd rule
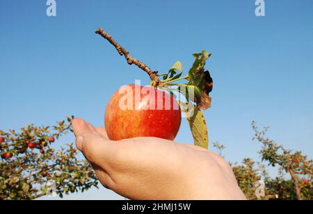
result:
[[[231,163],[232,169],[239,183],[240,188],[250,200],[312,200],[313,179],[312,179],[312,160],[303,156],[300,151],[284,149],[282,145],[277,145],[273,140],[266,138],[266,131],[259,131],[255,122],[252,123],[255,130],[255,138],[262,143],[262,150],[259,154],[262,162],[268,166],[278,167],[278,176],[272,179],[268,176],[265,165],[256,165],[250,158],[243,159],[241,164]],[[225,149],[220,144],[215,144],[219,151]],[[289,174],[290,179],[286,179]],[[265,197],[257,198],[255,195],[258,181],[265,183]]]

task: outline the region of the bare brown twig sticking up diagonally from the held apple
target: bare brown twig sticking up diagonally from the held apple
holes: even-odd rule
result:
[[[95,33],[101,35],[104,39],[108,40],[111,44],[113,44],[118,53],[120,53],[120,56],[125,56],[127,63],[129,65],[133,64],[137,65],[137,67],[145,71],[150,76],[152,86],[157,87],[158,85],[162,85],[161,81],[159,80],[159,77],[157,76],[158,72],[152,71],[150,67],[147,67],[147,65],[142,63],[140,60],[137,60],[136,58],[130,56],[129,51],[120,46],[120,44],[118,44],[118,42],[116,42],[109,33],[106,33],[104,29],[97,28],[97,31],[95,31]]]

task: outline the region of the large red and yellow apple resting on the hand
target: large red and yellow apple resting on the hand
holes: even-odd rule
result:
[[[120,108],[120,99],[125,94],[120,94],[119,90],[113,94],[109,104],[106,106],[104,124],[106,133],[110,140],[123,140],[139,137],[163,138],[174,140],[180,124],[182,122],[182,113],[180,107],[172,95],[159,90],[147,88],[138,85],[128,85],[133,92],[133,109]],[[136,102],[135,88],[141,89],[141,99]],[[143,89],[154,90],[154,94],[143,92]],[[158,92],[159,91],[159,92]],[[157,110],[157,94],[161,94],[163,99],[163,109]],[[148,109],[149,102],[143,97],[149,96],[149,100],[154,100],[156,109]],[[139,97],[139,96],[138,96]],[[159,98],[160,96],[158,96]],[[166,101],[170,101],[170,109],[166,109]],[[178,108],[174,109],[177,105]],[[127,102],[125,102],[127,104]],[[141,108],[135,109],[135,106]]]

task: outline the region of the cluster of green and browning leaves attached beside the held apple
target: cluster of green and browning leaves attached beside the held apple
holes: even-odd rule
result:
[[[178,91],[186,98],[186,103],[180,101],[184,113],[190,111],[187,107],[192,106],[195,113],[192,117],[187,117],[188,124],[191,128],[194,144],[199,147],[208,148],[209,136],[207,132],[207,124],[201,111],[211,107],[211,97],[209,93],[213,88],[213,80],[208,71],[204,71],[207,59],[211,53],[202,51],[195,53],[193,57],[195,62],[188,72],[187,76],[182,77],[182,63],[176,62],[167,74],[159,74],[163,76],[162,86],[177,86]],[[186,83],[175,83],[177,81],[187,81]],[[193,94],[193,96],[189,96]]]

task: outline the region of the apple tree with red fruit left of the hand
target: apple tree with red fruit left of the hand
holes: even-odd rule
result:
[[[55,192],[59,197],[85,191],[97,179],[86,161],[77,158],[72,144],[55,149],[61,136],[71,130],[71,120],[56,126],[33,124],[21,131],[0,130],[0,199],[37,199]]]

